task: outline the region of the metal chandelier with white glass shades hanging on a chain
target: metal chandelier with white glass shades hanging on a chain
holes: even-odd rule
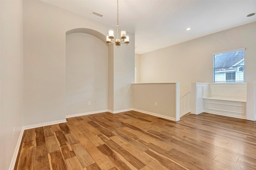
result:
[[[110,44],[116,44],[117,47],[119,47],[121,44],[129,44],[130,41],[130,37],[129,35],[126,35],[126,30],[125,29],[122,29],[121,30],[121,36],[120,36],[120,39],[119,39],[119,32],[118,32],[118,0],[117,0],[117,38],[115,40],[115,37],[114,37],[114,30],[113,29],[109,29],[108,30],[108,35],[106,36],[106,43],[108,43],[108,45]],[[112,42],[114,41],[114,42]],[[123,41],[123,42],[122,42]]]

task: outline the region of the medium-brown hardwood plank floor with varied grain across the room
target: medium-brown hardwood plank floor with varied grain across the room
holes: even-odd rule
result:
[[[208,113],[174,122],[136,111],[24,131],[15,170],[256,169],[256,123]]]

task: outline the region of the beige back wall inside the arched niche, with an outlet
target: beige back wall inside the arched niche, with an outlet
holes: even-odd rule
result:
[[[107,44],[86,33],[66,35],[66,115],[106,109]]]

